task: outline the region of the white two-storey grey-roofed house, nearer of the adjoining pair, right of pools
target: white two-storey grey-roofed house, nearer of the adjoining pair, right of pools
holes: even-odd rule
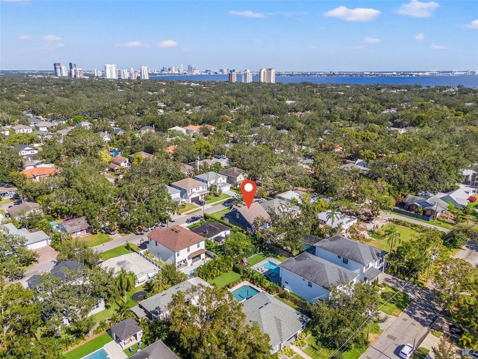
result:
[[[355,284],[359,278],[358,273],[308,252],[278,266],[281,287],[310,303],[329,298],[330,288],[338,283]]]

